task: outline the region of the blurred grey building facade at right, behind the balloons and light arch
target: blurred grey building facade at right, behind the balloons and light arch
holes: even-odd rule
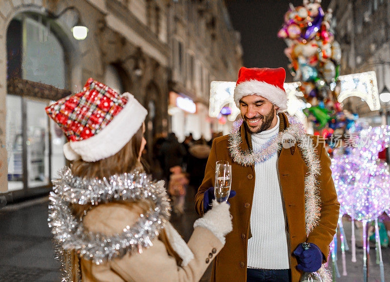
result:
[[[332,0],[329,8],[335,18],[335,37],[342,49],[340,75],[375,71],[378,91],[390,87],[390,1]],[[359,97],[344,101],[344,108],[358,113],[371,125],[389,119],[389,105],[370,111]],[[389,124],[389,121],[387,121]]]

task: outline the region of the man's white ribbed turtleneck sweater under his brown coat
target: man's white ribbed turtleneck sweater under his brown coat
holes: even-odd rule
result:
[[[265,144],[279,132],[277,124],[270,130],[252,134],[253,150]],[[248,267],[262,269],[288,269],[286,221],[284,217],[278,155],[254,165],[255,184],[251,213],[252,238],[248,240]]]

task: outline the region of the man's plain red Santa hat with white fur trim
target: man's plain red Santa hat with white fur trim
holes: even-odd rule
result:
[[[239,108],[240,99],[247,95],[258,95],[266,98],[275,106],[277,112],[287,110],[287,94],[283,83],[286,71],[283,68],[245,68],[238,72],[234,89],[234,102]]]

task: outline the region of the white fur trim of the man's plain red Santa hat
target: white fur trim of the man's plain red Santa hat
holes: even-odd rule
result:
[[[234,89],[234,102],[240,108],[240,99],[247,95],[258,95],[279,107],[277,112],[287,110],[287,95],[283,89],[272,84],[258,80],[248,80],[241,82]]]

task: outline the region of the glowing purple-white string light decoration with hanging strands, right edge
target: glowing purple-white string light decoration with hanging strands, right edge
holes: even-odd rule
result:
[[[342,212],[363,223],[363,273],[367,281],[367,223],[377,221],[378,216],[390,209],[389,167],[377,159],[379,151],[390,144],[390,127],[369,127],[355,132],[353,143],[350,155],[334,156],[331,169]],[[353,237],[352,229],[352,261],[355,259]],[[380,240],[378,232],[375,238]],[[384,277],[380,243],[378,249],[381,277]]]

